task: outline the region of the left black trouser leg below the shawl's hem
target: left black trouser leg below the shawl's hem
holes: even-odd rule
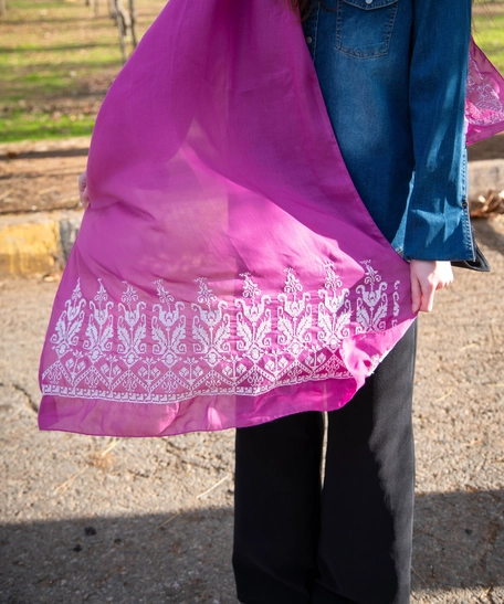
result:
[[[308,604],[316,574],[324,418],[237,430],[233,569],[246,604]]]

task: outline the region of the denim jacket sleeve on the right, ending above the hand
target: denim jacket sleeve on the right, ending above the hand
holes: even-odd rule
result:
[[[474,257],[464,127],[470,36],[471,0],[413,0],[409,97],[414,181],[406,258]]]

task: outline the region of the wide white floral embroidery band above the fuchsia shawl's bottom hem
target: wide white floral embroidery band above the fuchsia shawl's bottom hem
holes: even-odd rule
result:
[[[116,305],[102,279],[90,300],[77,282],[50,339],[55,360],[43,371],[43,393],[166,404],[350,378],[342,342],[389,329],[399,316],[400,282],[388,292],[371,262],[361,264],[364,278],[351,293],[327,262],[317,301],[293,268],[275,296],[263,294],[250,273],[240,275],[243,292],[233,304],[219,299],[204,277],[196,279],[197,301],[189,304],[155,282],[151,307],[126,282]]]

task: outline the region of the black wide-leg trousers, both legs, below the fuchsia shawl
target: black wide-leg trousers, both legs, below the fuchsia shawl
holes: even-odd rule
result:
[[[416,324],[343,409],[237,431],[233,569],[245,604],[407,604]]]

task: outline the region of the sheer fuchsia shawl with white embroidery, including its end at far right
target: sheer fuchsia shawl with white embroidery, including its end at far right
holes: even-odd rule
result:
[[[501,81],[471,56],[481,138],[504,128]],[[335,410],[414,319],[286,2],[170,0],[108,92],[87,178],[42,430],[164,436]]]

